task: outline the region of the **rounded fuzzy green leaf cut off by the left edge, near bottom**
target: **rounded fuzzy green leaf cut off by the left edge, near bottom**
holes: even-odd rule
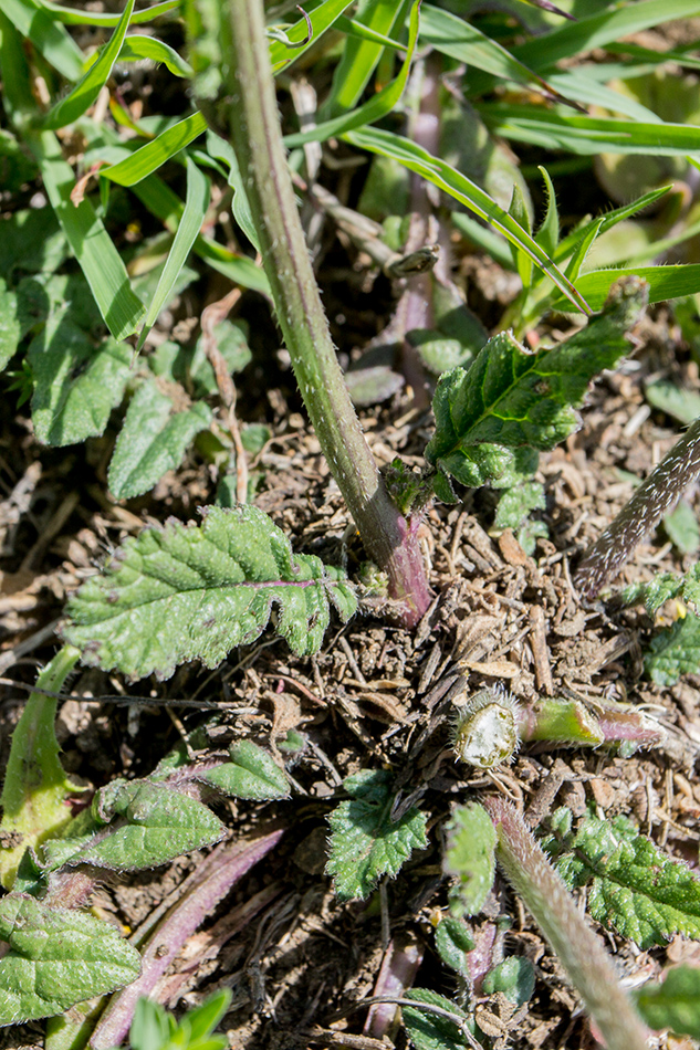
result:
[[[140,956],[112,923],[10,893],[0,901],[0,1025],[63,1014],[130,984]]]

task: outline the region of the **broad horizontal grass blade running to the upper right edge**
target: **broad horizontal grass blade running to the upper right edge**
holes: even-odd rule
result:
[[[645,154],[678,157],[700,153],[700,127],[692,124],[644,124],[638,120],[543,112],[541,106],[487,103],[478,106],[495,135],[546,149],[581,154]]]

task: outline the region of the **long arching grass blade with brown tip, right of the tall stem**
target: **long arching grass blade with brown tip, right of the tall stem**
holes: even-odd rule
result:
[[[511,244],[525,252],[534,264],[552,279],[557,288],[573,303],[576,309],[581,309],[585,314],[592,313],[581,292],[562,273],[536,241],[525,233],[515,219],[497,204],[488,193],[471,179],[452,168],[451,165],[433,157],[427,149],[422,149],[407,138],[378,128],[363,128],[361,132],[351,132],[343,137],[361,149],[368,149],[370,153],[398,160],[410,171],[422,176],[424,179],[432,182],[438,189],[445,190],[446,193],[464,204],[470,211],[476,212],[481,219],[485,219]]]

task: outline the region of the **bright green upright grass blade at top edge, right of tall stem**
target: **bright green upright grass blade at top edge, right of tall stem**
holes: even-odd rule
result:
[[[390,33],[393,29],[398,34],[409,7],[410,0],[403,0],[400,3],[364,0],[355,12],[355,19],[382,34]],[[343,55],[333,74],[331,96],[324,106],[326,115],[338,116],[356,106],[383,54],[382,44],[357,38],[346,40]]]

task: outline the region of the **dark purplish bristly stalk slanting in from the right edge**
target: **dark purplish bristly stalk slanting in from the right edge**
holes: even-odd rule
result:
[[[676,506],[699,473],[700,419],[697,419],[586,552],[574,574],[574,582],[584,597],[597,595],[637,544]]]

